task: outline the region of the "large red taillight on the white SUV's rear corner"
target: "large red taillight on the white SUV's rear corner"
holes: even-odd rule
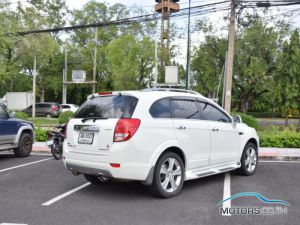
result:
[[[114,142],[128,141],[140,126],[139,119],[119,119],[114,134]]]

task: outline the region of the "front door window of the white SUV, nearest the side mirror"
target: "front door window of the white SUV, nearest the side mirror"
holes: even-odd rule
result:
[[[226,114],[224,114],[222,111],[220,111],[213,105],[204,102],[197,102],[197,104],[202,110],[203,119],[225,123],[231,122],[230,118]]]

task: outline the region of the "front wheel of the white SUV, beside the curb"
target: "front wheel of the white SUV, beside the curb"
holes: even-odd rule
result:
[[[251,176],[256,172],[258,165],[258,151],[255,144],[246,144],[241,157],[241,167],[237,172],[243,176]]]

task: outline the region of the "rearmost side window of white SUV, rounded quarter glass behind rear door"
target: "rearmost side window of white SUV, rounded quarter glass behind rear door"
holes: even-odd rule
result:
[[[152,104],[149,111],[153,118],[171,118],[170,99],[157,100]]]

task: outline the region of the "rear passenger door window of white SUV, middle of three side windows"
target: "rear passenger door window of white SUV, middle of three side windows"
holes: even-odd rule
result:
[[[200,119],[195,101],[172,99],[172,117],[177,119]]]

